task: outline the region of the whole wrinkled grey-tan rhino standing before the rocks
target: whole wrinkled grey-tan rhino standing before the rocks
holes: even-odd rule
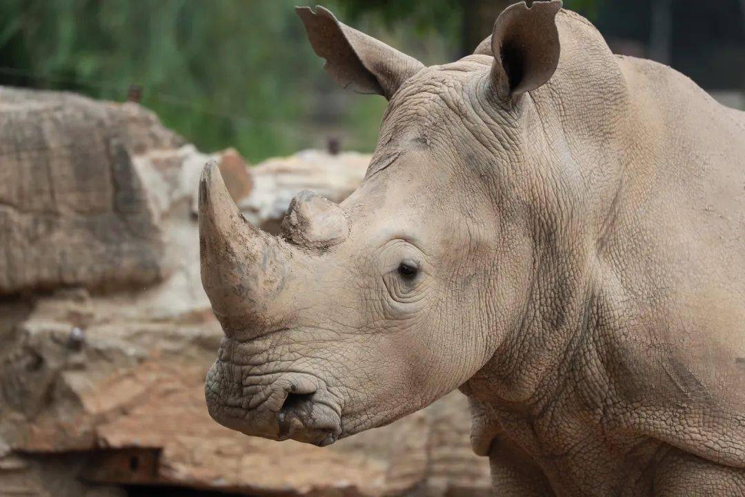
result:
[[[432,67],[299,9],[390,105],[360,188],[281,237],[206,168],[215,420],[323,446],[460,387],[500,496],[745,495],[745,115],[559,7]]]

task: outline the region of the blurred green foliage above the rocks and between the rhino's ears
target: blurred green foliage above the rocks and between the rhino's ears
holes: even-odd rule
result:
[[[592,13],[595,1],[565,5]],[[233,146],[252,162],[340,134],[345,148],[372,150],[385,101],[334,89],[295,3],[3,0],[0,84],[114,101],[135,84],[142,104],[189,142],[203,151]],[[425,63],[443,63],[463,44],[463,5],[475,1],[326,3],[345,22]]]

